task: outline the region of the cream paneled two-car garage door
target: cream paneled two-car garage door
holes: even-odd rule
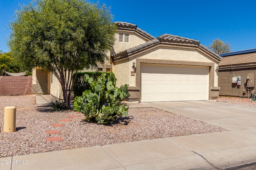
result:
[[[208,66],[141,64],[141,102],[208,100]]]

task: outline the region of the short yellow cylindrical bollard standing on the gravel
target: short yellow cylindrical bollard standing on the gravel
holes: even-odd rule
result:
[[[16,107],[4,107],[4,132],[16,131]]]

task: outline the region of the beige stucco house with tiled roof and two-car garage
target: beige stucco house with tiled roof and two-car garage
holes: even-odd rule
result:
[[[128,101],[217,99],[219,55],[194,39],[169,34],[155,38],[132,23],[115,23],[118,32],[110,61],[98,66],[99,70],[114,72],[116,86],[129,84]],[[48,79],[52,92],[54,76]]]

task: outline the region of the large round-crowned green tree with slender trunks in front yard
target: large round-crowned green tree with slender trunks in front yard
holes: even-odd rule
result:
[[[62,85],[66,107],[71,108],[72,74],[104,63],[116,25],[105,5],[35,0],[16,11],[10,29],[8,45],[23,68],[39,66],[52,72]]]

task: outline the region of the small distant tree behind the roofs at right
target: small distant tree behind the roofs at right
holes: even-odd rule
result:
[[[210,44],[209,49],[214,51],[216,54],[222,54],[222,53],[229,53],[231,52],[231,45],[227,42],[226,44],[221,41],[220,39],[215,39],[212,41],[212,44]]]

